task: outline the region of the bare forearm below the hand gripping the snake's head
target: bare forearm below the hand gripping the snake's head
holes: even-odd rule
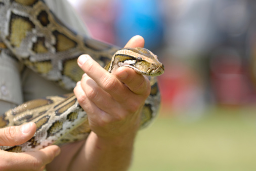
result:
[[[135,133],[107,140],[92,132],[69,168],[87,171],[127,170],[132,160],[134,139]]]

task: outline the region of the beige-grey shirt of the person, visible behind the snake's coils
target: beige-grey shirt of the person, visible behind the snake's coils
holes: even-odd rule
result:
[[[45,0],[54,14],[78,34],[89,35],[82,20],[66,0]],[[7,54],[0,54],[0,115],[24,101],[68,93]]]

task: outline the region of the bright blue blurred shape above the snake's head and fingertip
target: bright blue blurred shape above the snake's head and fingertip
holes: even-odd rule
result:
[[[115,21],[116,43],[124,46],[135,35],[145,39],[146,48],[159,46],[163,39],[163,22],[155,0],[121,0]]]

